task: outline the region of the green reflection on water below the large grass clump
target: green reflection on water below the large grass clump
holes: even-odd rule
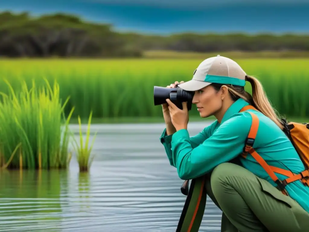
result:
[[[0,231],[60,231],[63,171],[2,170]],[[36,230],[38,228],[38,230]]]

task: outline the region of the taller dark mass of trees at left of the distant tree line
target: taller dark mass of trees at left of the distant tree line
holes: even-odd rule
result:
[[[84,23],[76,16],[55,14],[30,18],[28,13],[0,14],[0,55],[10,57],[111,57],[130,52],[110,25]]]

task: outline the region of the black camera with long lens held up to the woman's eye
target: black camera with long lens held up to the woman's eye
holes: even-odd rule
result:
[[[182,110],[182,102],[187,101],[188,110],[192,108],[192,99],[194,92],[186,91],[178,87],[167,88],[167,87],[154,87],[154,103],[155,105],[162,105],[166,103],[165,99],[170,99],[179,109]]]

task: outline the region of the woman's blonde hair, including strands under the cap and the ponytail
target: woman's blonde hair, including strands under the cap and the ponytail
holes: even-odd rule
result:
[[[283,124],[278,116],[277,111],[272,107],[264,88],[260,81],[253,76],[246,76],[246,80],[251,84],[252,96],[250,93],[244,90],[242,86],[225,85],[233,95],[232,98],[241,97],[245,101],[248,101],[250,105],[254,106],[266,117],[270,118],[281,130],[283,130]],[[221,85],[222,86],[222,85]],[[218,89],[219,86],[215,88]]]

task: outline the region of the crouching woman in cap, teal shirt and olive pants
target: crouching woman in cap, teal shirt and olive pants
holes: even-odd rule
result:
[[[244,90],[245,81],[252,85],[252,96]],[[192,80],[180,83],[180,88],[195,92],[192,103],[200,116],[214,115],[217,120],[189,137],[186,103],[180,110],[167,99],[160,140],[181,179],[205,175],[207,195],[223,212],[221,231],[309,231],[309,187],[295,181],[286,186],[288,196],[284,195],[252,157],[239,156],[251,127],[251,112],[259,119],[256,152],[269,165],[297,174],[305,169],[260,82],[218,55],[201,62]],[[239,112],[246,105],[256,110]]]

